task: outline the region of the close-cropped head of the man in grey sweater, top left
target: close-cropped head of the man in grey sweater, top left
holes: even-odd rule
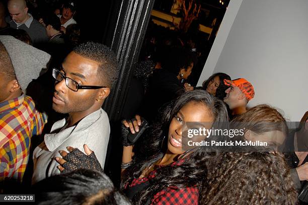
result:
[[[25,0],[10,0],[8,10],[16,23],[25,23],[28,20],[28,8]]]

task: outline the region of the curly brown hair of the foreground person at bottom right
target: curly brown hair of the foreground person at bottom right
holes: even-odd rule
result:
[[[295,204],[297,192],[283,155],[224,152],[208,161],[200,204]]]

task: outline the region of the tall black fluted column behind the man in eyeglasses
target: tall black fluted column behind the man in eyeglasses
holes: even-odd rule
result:
[[[104,171],[114,182],[120,184],[122,140],[120,138],[121,114],[135,68],[154,0],[112,0],[103,43],[116,53],[120,63],[119,79],[103,109],[110,120],[109,138]]]

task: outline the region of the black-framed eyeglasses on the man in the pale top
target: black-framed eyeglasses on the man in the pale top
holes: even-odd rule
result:
[[[52,76],[58,82],[62,81],[64,78],[66,86],[73,91],[78,91],[79,89],[99,89],[99,88],[106,87],[106,86],[96,86],[96,85],[80,85],[78,82],[74,81],[73,79],[66,77],[63,73],[61,73],[56,68],[52,69]]]

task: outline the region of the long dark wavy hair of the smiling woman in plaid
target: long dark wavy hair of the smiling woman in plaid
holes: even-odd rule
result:
[[[162,121],[148,129],[147,134],[135,145],[138,149],[135,152],[133,164],[126,169],[121,182],[121,189],[125,188],[134,178],[138,178],[141,172],[151,164],[163,157],[167,146],[162,146],[164,136],[168,139],[168,130],[172,118],[180,109],[189,102],[197,102],[205,105],[211,112],[214,124],[227,121],[227,111],[224,103],[204,90],[186,92],[171,104],[162,113]],[[178,188],[199,185],[206,176],[206,160],[209,157],[206,147],[196,149],[187,157],[180,166],[164,166],[157,169],[157,175],[151,179],[150,185],[133,197],[133,203],[144,204],[149,198],[159,191],[173,186]],[[199,187],[199,186],[198,186]],[[200,188],[200,187],[199,187]]]

